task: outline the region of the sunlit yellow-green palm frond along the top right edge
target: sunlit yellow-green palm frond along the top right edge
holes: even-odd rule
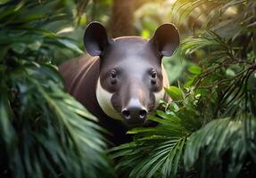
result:
[[[171,7],[171,18],[176,24],[181,25],[184,22],[189,22],[187,21],[187,18],[193,17],[193,24],[189,25],[194,25],[196,20],[199,20],[200,17],[202,17],[204,20],[202,22],[203,27],[219,28],[219,18],[228,19],[228,8],[237,5],[244,5],[247,10],[244,11],[248,14],[254,11],[252,7],[253,0],[178,0]],[[241,19],[240,15],[237,20],[238,19]],[[229,22],[235,22],[237,20],[235,19]]]

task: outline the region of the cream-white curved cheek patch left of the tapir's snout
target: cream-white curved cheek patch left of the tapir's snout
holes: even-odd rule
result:
[[[122,120],[120,114],[117,113],[117,111],[113,108],[111,104],[112,95],[112,93],[109,93],[108,91],[103,89],[99,77],[96,85],[96,98],[100,107],[103,109],[104,113],[109,117],[112,117],[117,120]]]

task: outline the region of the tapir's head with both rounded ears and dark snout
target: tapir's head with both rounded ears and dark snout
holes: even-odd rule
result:
[[[100,58],[95,92],[105,114],[129,127],[143,125],[147,113],[163,99],[164,86],[169,85],[161,59],[176,50],[178,29],[164,24],[149,40],[139,36],[111,39],[103,25],[92,22],[84,44],[87,53]]]

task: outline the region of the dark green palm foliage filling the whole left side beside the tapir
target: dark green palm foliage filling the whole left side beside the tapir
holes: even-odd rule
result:
[[[76,20],[74,5],[0,4],[0,177],[112,175],[103,129],[63,92],[54,66],[55,53],[81,53],[70,38],[54,33]]]

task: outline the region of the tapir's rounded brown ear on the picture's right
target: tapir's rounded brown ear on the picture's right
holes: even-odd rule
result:
[[[171,56],[179,44],[178,29],[173,24],[163,24],[156,29],[150,42],[157,47],[162,56]]]

